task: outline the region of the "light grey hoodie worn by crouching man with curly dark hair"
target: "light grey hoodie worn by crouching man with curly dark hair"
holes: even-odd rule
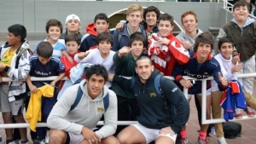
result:
[[[70,111],[79,87],[84,95],[77,107]],[[107,112],[104,111],[103,98],[109,94],[109,105]],[[83,80],[80,84],[75,84],[66,89],[61,99],[56,102],[49,113],[47,124],[49,128],[64,130],[73,134],[81,134],[83,126],[89,129],[96,127],[96,124],[104,114],[105,124],[96,131],[100,138],[113,135],[117,127],[117,98],[115,93],[104,85],[102,92],[94,100],[90,98],[87,91],[87,84]]]

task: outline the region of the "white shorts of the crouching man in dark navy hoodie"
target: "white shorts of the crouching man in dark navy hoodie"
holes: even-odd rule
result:
[[[167,136],[167,137],[171,138],[174,142],[176,141],[176,138],[177,138],[177,134],[175,134],[175,135],[172,135],[172,134],[159,135],[160,130],[149,129],[139,123],[131,124],[131,125],[134,126],[137,130],[139,130],[144,135],[144,137],[146,138],[146,143],[150,143],[151,141],[156,140],[159,136]]]

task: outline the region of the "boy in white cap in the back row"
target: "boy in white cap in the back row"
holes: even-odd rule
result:
[[[60,39],[65,39],[65,37],[67,37],[67,34],[72,34],[72,33],[79,33],[79,35],[82,37],[81,33],[79,32],[81,28],[81,23],[78,15],[76,14],[67,15],[65,24],[66,24],[66,32],[61,34]]]

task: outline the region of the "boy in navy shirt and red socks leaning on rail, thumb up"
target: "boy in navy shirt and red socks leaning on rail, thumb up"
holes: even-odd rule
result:
[[[194,52],[190,53],[189,62],[184,65],[177,63],[173,71],[173,77],[177,83],[181,84],[184,88],[189,89],[189,100],[192,95],[195,95],[195,98],[198,99],[200,104],[202,95],[201,81],[195,81],[195,84],[192,84],[190,80],[183,79],[183,76],[189,76],[198,79],[213,76],[213,79],[218,84],[219,90],[224,91],[228,86],[227,79],[221,76],[218,61],[211,57],[213,45],[214,38],[212,37],[212,34],[209,32],[201,33],[201,35],[195,38]],[[207,81],[207,119],[211,118],[210,83],[211,81]],[[207,144],[207,129],[208,124],[201,124],[201,130],[198,137],[199,144]],[[182,131],[185,132],[185,127]]]

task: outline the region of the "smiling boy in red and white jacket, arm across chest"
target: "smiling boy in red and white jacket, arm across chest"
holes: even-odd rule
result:
[[[148,56],[156,69],[164,76],[172,76],[173,67],[177,62],[184,64],[189,61],[189,52],[172,34],[174,26],[170,14],[160,14],[158,19],[158,33],[148,43]]]

